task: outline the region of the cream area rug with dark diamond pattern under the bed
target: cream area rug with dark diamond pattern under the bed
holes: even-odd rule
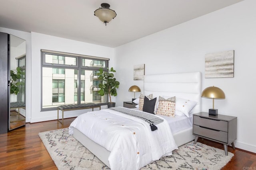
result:
[[[94,154],[68,134],[68,128],[38,134],[52,160],[60,170],[109,170]],[[234,156],[224,150],[202,143],[186,143],[166,156],[141,168],[141,170],[218,170]]]

